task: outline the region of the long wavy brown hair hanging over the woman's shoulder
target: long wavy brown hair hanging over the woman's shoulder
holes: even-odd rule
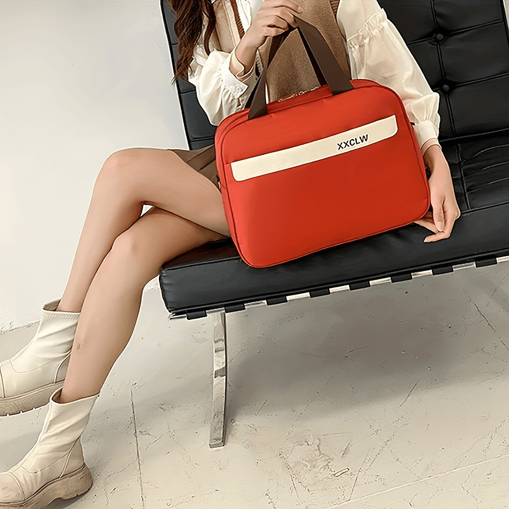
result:
[[[194,47],[203,31],[204,14],[209,22],[204,35],[205,51],[210,54],[209,41],[216,26],[216,15],[210,0],[166,0],[175,12],[173,30],[179,42],[179,58],[172,83],[181,78],[189,81],[187,70],[192,62]]]

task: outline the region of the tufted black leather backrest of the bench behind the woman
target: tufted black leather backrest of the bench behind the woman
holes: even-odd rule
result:
[[[362,1],[362,0],[359,0]],[[440,94],[440,139],[509,128],[509,30],[503,0],[378,0]],[[174,13],[161,0],[172,61]],[[189,148],[214,143],[194,86],[177,81]]]

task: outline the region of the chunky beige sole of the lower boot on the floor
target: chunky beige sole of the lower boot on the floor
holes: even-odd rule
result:
[[[41,509],[57,498],[68,500],[82,495],[91,487],[92,474],[89,467],[83,463],[83,466],[78,470],[45,484],[30,498],[22,502],[0,502],[0,507],[5,509]]]

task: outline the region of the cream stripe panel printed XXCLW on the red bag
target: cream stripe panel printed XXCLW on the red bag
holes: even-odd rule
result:
[[[237,181],[252,179],[280,172],[283,169],[293,168],[302,164],[319,161],[337,154],[360,149],[367,145],[381,142],[394,136],[398,132],[396,116],[377,120],[371,124],[356,127],[350,131],[333,134],[314,142],[305,143],[297,147],[277,150],[268,154],[248,157],[233,161],[232,174]]]

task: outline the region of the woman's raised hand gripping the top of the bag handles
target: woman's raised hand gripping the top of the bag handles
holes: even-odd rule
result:
[[[259,48],[269,36],[285,32],[290,25],[296,27],[294,15],[302,12],[302,7],[293,0],[263,0],[244,37],[250,46]]]

